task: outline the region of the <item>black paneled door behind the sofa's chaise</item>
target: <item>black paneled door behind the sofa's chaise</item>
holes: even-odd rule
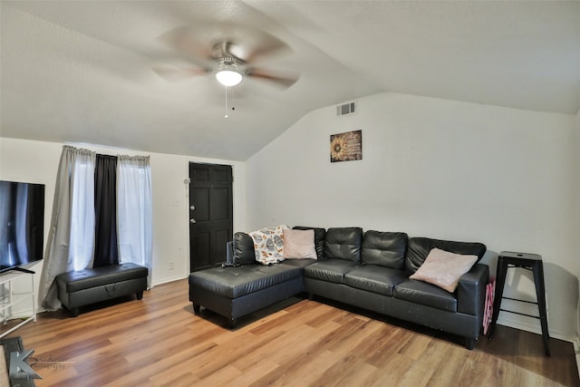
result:
[[[189,269],[226,261],[233,237],[232,167],[189,163]]]

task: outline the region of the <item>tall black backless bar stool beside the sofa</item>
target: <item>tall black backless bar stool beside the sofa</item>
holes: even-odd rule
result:
[[[507,269],[510,267],[521,267],[531,270],[534,273],[534,284],[536,285],[536,302],[519,300],[517,298],[504,297],[504,285],[506,284]],[[537,254],[514,253],[512,251],[502,251],[498,256],[498,276],[496,279],[496,297],[493,302],[493,315],[491,317],[491,324],[489,325],[489,340],[493,336],[498,321],[499,311],[502,310],[508,313],[527,315],[540,320],[542,326],[542,338],[544,340],[544,349],[546,356],[550,355],[549,339],[550,335],[547,331],[547,314],[546,314],[546,288],[544,285],[544,266],[542,265],[542,256]],[[531,314],[518,313],[506,309],[500,309],[501,300],[506,298],[508,300],[519,301],[537,305],[539,316]]]

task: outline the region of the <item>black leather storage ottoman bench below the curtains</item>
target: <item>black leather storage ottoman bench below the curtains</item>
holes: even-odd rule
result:
[[[86,268],[60,274],[55,281],[58,299],[75,317],[84,305],[133,293],[140,300],[147,289],[147,267],[126,263]]]

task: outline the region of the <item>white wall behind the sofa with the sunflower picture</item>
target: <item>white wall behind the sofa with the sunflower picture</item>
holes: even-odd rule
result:
[[[576,330],[575,116],[397,93],[304,116],[247,160],[247,227],[360,226],[479,241],[493,273],[501,250],[540,254],[549,327]],[[329,137],[362,130],[362,160],[331,163]],[[505,295],[535,299],[531,277]],[[529,306],[516,306],[526,311]],[[538,321],[499,324],[540,332]]]

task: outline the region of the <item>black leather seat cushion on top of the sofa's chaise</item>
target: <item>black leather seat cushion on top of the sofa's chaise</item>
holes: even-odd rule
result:
[[[255,293],[302,276],[300,267],[286,265],[247,265],[237,267],[212,267],[193,272],[189,284],[227,298],[237,298]]]

